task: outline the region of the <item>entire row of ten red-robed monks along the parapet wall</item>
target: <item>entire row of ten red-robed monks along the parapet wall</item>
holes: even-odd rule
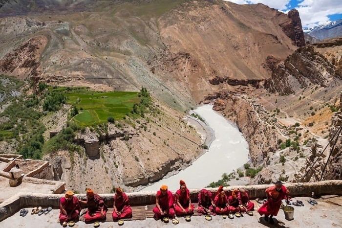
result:
[[[277,182],[278,183],[278,182]],[[260,207],[258,212],[264,214],[265,219],[268,216],[278,214],[281,200],[288,196],[288,190],[282,186],[281,182],[276,186],[266,189],[268,202]],[[175,215],[185,216],[194,213],[194,205],[191,202],[190,191],[184,181],[180,181],[180,188],[175,195],[168,190],[168,186],[162,185],[156,194],[156,206],[153,209],[154,218],[162,219],[169,217],[173,219]],[[281,184],[281,185],[280,185]],[[119,220],[132,217],[132,210],[129,206],[128,196],[121,188],[116,188],[114,195],[113,220]],[[60,222],[66,225],[66,222],[76,220],[81,211],[81,205],[87,205],[88,210],[85,214],[85,221],[105,219],[107,216],[107,205],[103,199],[94,193],[93,190],[87,189],[86,201],[79,200],[74,196],[72,191],[67,191],[61,199],[60,204]],[[274,198],[274,200],[272,200]],[[278,199],[278,200],[277,200]],[[278,208],[278,209],[277,209]],[[228,215],[229,213],[244,212],[254,210],[254,203],[250,202],[248,193],[245,189],[235,189],[232,195],[227,197],[223,186],[217,190],[214,199],[212,193],[206,189],[202,189],[198,193],[197,213],[199,215]]]

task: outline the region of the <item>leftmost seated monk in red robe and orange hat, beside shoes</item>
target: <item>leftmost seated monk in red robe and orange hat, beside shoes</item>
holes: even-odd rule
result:
[[[60,222],[63,223],[63,226],[66,226],[69,221],[76,220],[80,215],[80,202],[74,195],[75,193],[72,191],[67,191],[65,196],[61,198]]]

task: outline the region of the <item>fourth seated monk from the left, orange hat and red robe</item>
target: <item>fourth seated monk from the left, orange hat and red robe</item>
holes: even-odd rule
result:
[[[174,219],[174,198],[171,191],[168,191],[167,185],[162,185],[160,191],[157,191],[155,196],[155,205],[153,209],[154,219],[162,219],[168,217]]]

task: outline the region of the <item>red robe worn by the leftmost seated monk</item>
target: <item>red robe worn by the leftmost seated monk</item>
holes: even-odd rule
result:
[[[62,212],[62,206],[64,207],[64,210],[66,211],[67,215],[64,215]],[[71,200],[66,200],[65,197],[61,198],[61,204],[60,204],[60,222],[69,222],[72,220],[76,220],[81,211],[81,206],[79,200],[72,196]],[[70,219],[68,219],[68,216],[71,216]]]

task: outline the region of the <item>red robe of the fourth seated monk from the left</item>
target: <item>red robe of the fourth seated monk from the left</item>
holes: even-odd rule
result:
[[[173,208],[174,198],[173,198],[172,192],[167,191],[167,193],[163,195],[161,191],[158,191],[156,197],[158,197],[159,206],[161,207],[161,209],[163,211],[168,211],[168,213],[166,215],[162,215],[160,213],[159,208],[156,206],[153,209],[154,218],[158,220],[167,216],[168,218],[174,219],[174,214],[175,214],[174,208]]]

